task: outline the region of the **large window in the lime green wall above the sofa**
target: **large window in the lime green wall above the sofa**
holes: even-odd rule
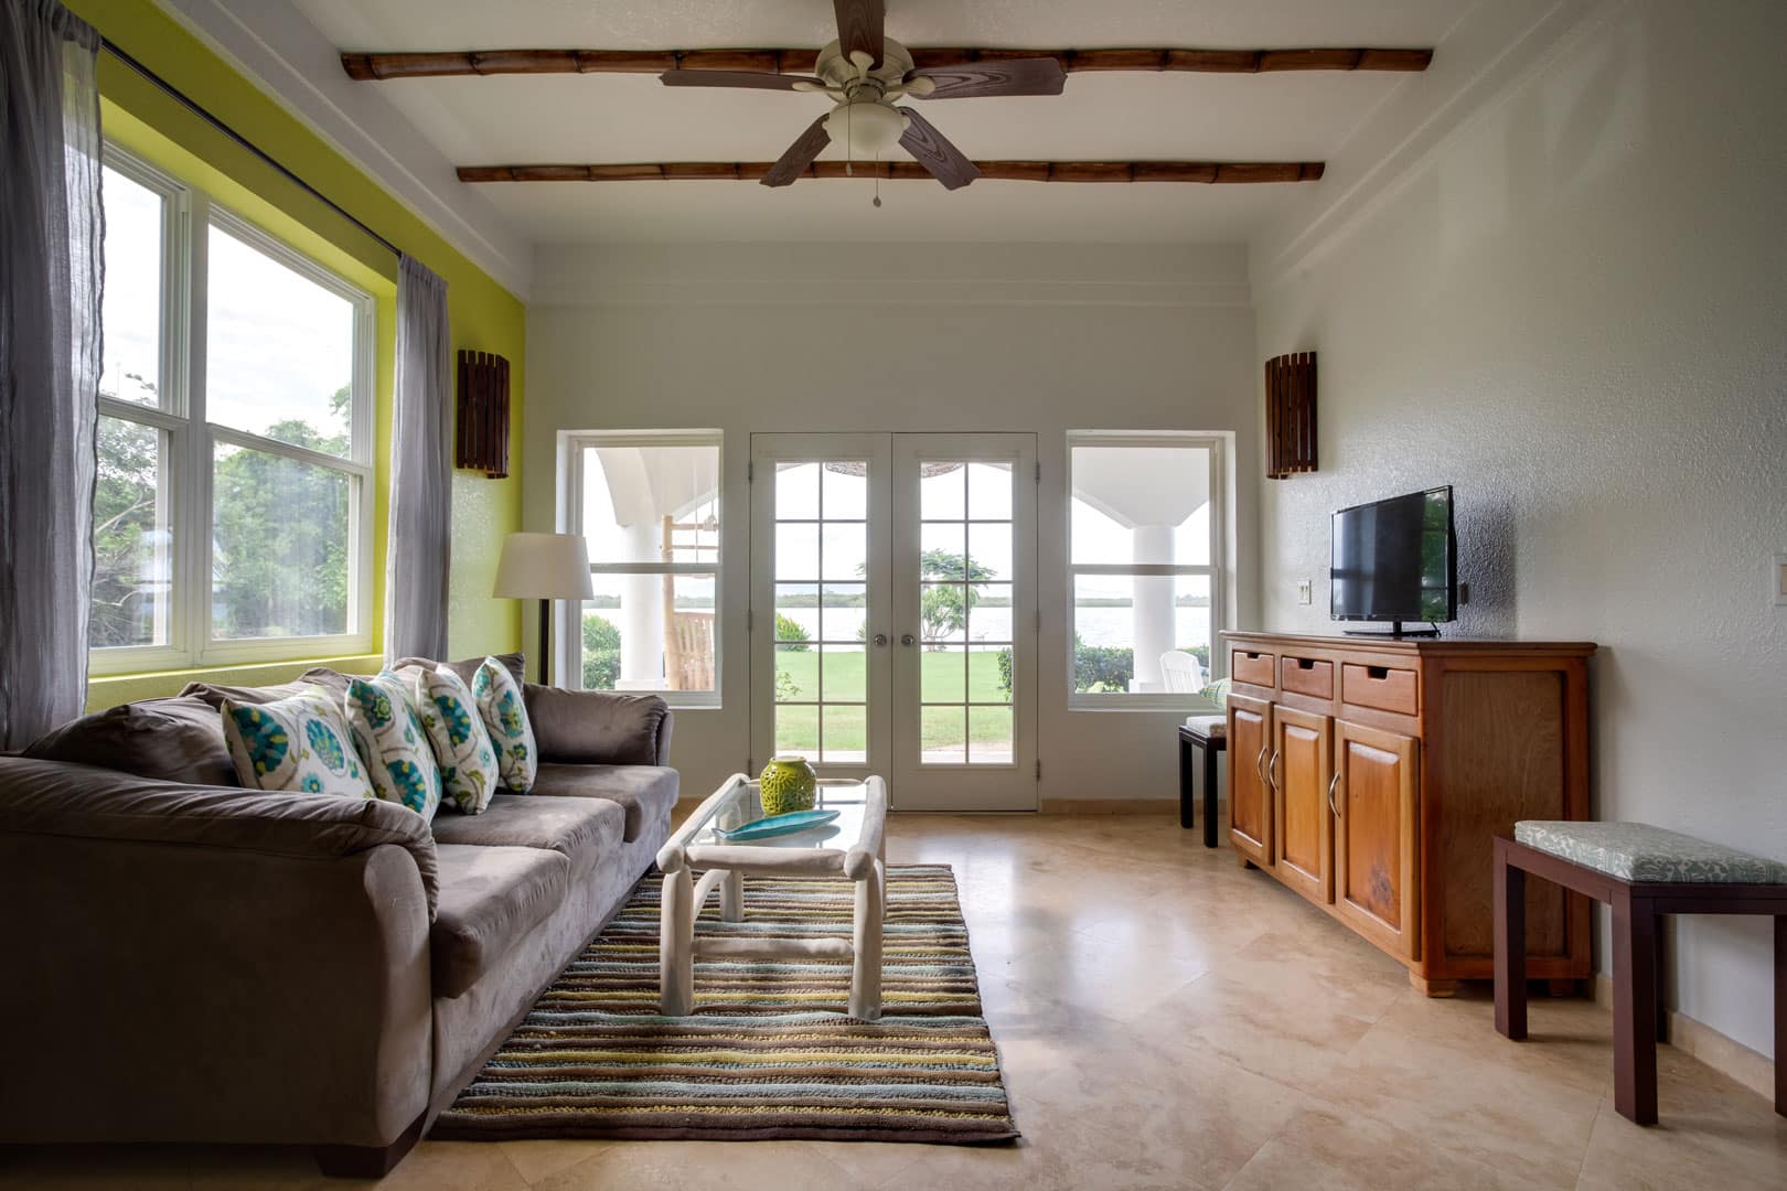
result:
[[[372,298],[105,150],[96,673],[370,648]]]

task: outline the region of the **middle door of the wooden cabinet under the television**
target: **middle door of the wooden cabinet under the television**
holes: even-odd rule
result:
[[[1322,905],[1333,902],[1331,725],[1328,716],[1274,707],[1272,759],[1265,764],[1274,793],[1272,873]]]

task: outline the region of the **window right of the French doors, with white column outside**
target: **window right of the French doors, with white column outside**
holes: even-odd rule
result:
[[[1067,457],[1069,704],[1199,704],[1222,623],[1222,441],[1076,432]]]

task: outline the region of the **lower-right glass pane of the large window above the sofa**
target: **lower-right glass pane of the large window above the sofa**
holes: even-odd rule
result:
[[[211,634],[348,630],[350,475],[218,445],[211,504]]]

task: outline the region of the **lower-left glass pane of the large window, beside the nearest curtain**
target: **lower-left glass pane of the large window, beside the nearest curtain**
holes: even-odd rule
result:
[[[111,184],[111,179],[107,179]],[[107,195],[109,198],[109,195]],[[88,645],[166,645],[170,548],[166,436],[100,418],[93,487],[93,614]]]

